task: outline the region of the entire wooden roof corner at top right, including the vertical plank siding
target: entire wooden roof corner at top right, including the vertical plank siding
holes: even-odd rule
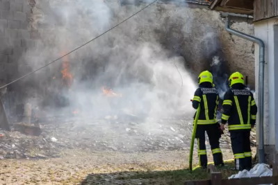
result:
[[[252,15],[254,21],[278,17],[278,0],[213,0],[208,8]]]

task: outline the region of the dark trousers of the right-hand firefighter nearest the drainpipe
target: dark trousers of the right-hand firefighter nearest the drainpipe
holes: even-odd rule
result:
[[[250,130],[233,130],[230,131],[230,134],[236,170],[250,170],[252,168]]]

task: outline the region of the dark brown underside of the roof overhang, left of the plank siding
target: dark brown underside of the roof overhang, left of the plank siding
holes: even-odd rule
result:
[[[253,15],[254,0],[214,0],[208,8],[221,12]]]

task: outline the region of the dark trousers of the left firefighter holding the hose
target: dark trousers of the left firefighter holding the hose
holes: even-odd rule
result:
[[[219,139],[221,137],[218,130],[218,124],[209,125],[197,125],[196,138],[198,142],[198,157],[199,166],[206,168],[208,165],[208,158],[206,156],[206,134],[208,134],[208,141],[211,145],[211,151],[213,153],[213,161],[215,166],[223,164],[222,152],[220,150]]]

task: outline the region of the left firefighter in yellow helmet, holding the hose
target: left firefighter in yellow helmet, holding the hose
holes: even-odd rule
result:
[[[208,159],[206,156],[205,132],[208,134],[208,140],[211,145],[214,164],[215,166],[222,166],[224,164],[219,142],[221,132],[220,124],[216,118],[219,101],[218,91],[214,88],[213,76],[209,71],[203,71],[200,73],[198,82],[199,88],[194,94],[193,108],[197,109],[198,106],[200,106],[195,136],[198,142],[199,166],[206,168],[208,164]]]

